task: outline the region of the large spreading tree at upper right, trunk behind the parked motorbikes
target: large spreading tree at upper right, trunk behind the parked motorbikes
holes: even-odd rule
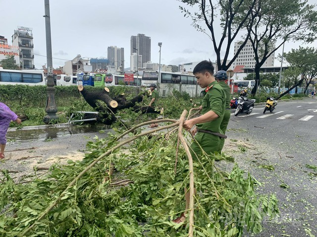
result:
[[[256,85],[251,92],[253,95],[260,82],[261,66],[285,41],[313,42],[317,39],[315,6],[307,4],[307,0],[257,1],[251,13],[251,18],[255,20],[247,22],[256,61]],[[280,42],[275,45],[277,40]]]

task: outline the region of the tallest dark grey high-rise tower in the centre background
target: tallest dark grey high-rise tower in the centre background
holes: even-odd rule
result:
[[[131,36],[131,39],[130,39],[131,57],[133,53],[142,55],[141,65],[143,65],[143,63],[151,61],[151,37],[145,36],[144,34]],[[134,67],[135,66],[132,65],[132,60],[131,60],[131,69],[133,69]]]

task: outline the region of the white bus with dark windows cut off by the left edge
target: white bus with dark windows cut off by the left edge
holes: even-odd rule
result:
[[[43,70],[0,69],[0,84],[45,85]]]

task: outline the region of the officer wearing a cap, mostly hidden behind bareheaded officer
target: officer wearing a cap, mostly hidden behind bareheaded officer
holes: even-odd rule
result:
[[[221,87],[223,88],[224,93],[226,94],[226,97],[227,97],[224,116],[223,116],[222,122],[220,124],[220,129],[223,132],[223,134],[225,134],[229,120],[230,120],[230,98],[231,98],[230,86],[225,82],[225,80],[228,79],[226,71],[219,70],[215,74],[215,78],[216,78],[217,82],[219,83],[219,85],[221,85]],[[219,146],[220,151],[223,148],[223,144],[224,144],[224,138],[221,138],[220,139],[220,146]]]

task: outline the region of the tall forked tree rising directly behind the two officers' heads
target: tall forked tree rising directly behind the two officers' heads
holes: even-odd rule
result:
[[[190,7],[197,7],[198,12],[190,12],[185,7],[180,6],[185,17],[191,17],[193,26],[211,38],[214,52],[217,56],[218,70],[227,70],[235,61],[241,49],[249,40],[251,29],[247,29],[245,25],[253,24],[257,14],[251,14],[258,0],[180,0]],[[203,22],[203,23],[202,23]],[[201,24],[206,24],[210,33]],[[221,29],[219,29],[219,27]],[[227,62],[231,45],[238,36],[246,34],[238,45],[236,54],[230,62]],[[221,57],[221,54],[224,54]],[[223,61],[221,61],[223,59]]]

